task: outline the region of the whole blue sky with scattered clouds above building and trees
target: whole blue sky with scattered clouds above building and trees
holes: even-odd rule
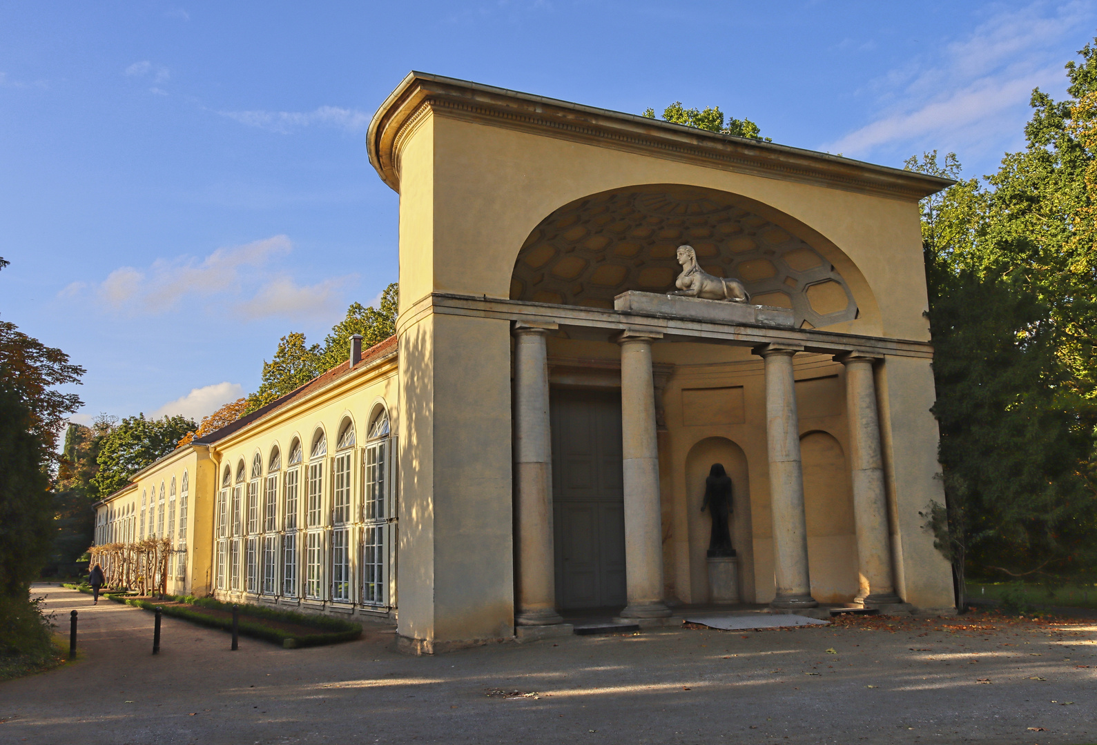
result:
[[[977,175],[1095,32],[1092,2],[0,3],[0,318],[88,368],[77,421],[201,416],[396,280],[364,134],[408,70]]]

